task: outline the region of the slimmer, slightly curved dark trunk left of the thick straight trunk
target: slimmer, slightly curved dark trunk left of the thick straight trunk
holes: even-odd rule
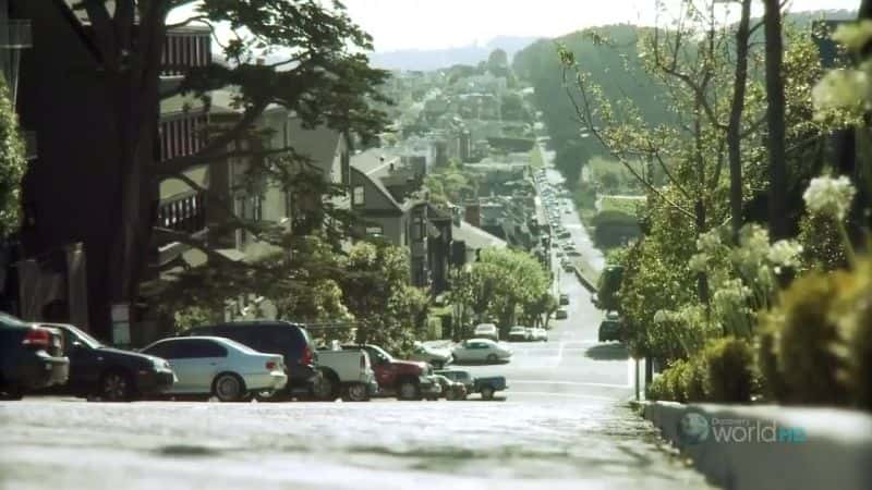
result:
[[[742,228],[742,161],[741,123],[744,109],[744,93],[748,82],[748,40],[750,32],[751,0],[742,0],[739,29],[736,32],[736,78],[732,85],[732,102],[727,126],[727,150],[729,152],[729,207],[732,218],[732,240],[738,243]]]

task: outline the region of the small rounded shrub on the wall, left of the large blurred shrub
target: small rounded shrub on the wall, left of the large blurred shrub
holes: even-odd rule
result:
[[[724,338],[703,351],[705,393],[711,402],[749,403],[754,381],[754,354],[741,339]]]

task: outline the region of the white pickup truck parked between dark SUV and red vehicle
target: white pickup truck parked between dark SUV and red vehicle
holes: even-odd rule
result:
[[[351,402],[365,402],[378,393],[378,381],[365,350],[322,350],[317,354],[323,376],[313,388],[316,399],[334,401],[341,395]]]

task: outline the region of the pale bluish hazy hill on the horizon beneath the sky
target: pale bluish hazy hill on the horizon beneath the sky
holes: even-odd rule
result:
[[[530,46],[535,37],[499,36],[484,46],[469,45],[460,48],[375,52],[370,59],[374,66],[385,70],[439,70],[455,64],[476,65],[486,61],[491,51],[500,48],[511,59],[516,52]]]

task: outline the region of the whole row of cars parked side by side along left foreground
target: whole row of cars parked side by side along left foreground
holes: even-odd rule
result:
[[[202,326],[131,352],[104,345],[74,326],[28,323],[0,314],[0,396],[5,399],[60,390],[108,401],[453,400],[472,392],[493,396],[505,389],[505,379],[474,380],[472,390],[460,384],[427,363],[395,359],[377,345],[316,350],[304,326],[286,321]]]

